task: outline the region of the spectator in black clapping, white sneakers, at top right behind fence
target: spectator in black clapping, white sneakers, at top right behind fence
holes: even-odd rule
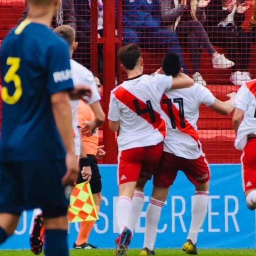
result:
[[[204,28],[212,44],[227,48],[228,58],[236,63],[230,76],[230,81],[235,85],[251,80],[248,72],[251,38],[241,27],[248,7],[240,0],[225,1],[224,6],[221,0],[212,0],[204,9]]]

